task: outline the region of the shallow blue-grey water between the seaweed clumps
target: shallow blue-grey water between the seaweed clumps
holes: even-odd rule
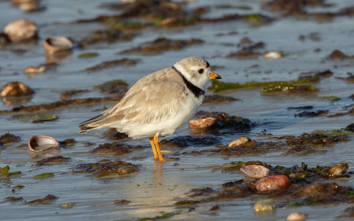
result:
[[[20,17],[34,21],[40,27],[39,37],[67,36],[74,40],[82,39],[93,30],[101,29],[103,24],[83,23],[68,24],[78,19],[91,19],[100,14],[114,14],[114,11],[99,7],[103,1],[45,1],[42,5],[46,10],[36,13],[25,13],[19,8],[11,6],[9,1],[0,1],[0,27],[5,27]],[[104,1],[104,2],[109,2]],[[261,11],[260,1],[223,1],[235,5],[247,5],[251,10],[239,10],[235,8],[217,8],[214,1],[191,1],[188,8],[210,5],[210,12],[204,17],[216,18],[228,13],[257,13]],[[313,11],[336,12],[344,7],[352,7],[351,1],[328,1],[331,7],[310,8]],[[271,17],[277,17],[275,13],[261,11]],[[38,66],[45,63],[45,51],[40,41],[34,44],[16,43],[0,51],[0,85],[10,81],[22,81],[34,89],[33,98],[22,105],[39,105],[60,100],[59,96],[69,90],[91,90],[93,86],[103,82],[122,79],[130,86],[139,78],[156,70],[173,65],[178,60],[199,56],[208,60],[211,66],[224,66],[214,71],[222,76],[223,82],[245,83],[250,81],[289,81],[296,80],[303,72],[318,72],[330,69],[334,74],[331,77],[321,78],[314,84],[319,92],[312,95],[261,95],[260,88],[238,89],[220,92],[218,94],[238,98],[241,101],[221,104],[203,104],[199,110],[222,111],[230,115],[249,118],[256,126],[247,131],[221,130],[213,135],[218,136],[222,144],[245,135],[257,142],[268,141],[268,136],[257,136],[266,133],[279,137],[284,135],[300,135],[310,133],[313,130],[333,130],[345,128],[353,122],[353,115],[340,117],[295,117],[298,110],[288,110],[287,107],[299,107],[311,105],[316,110],[328,110],[329,114],[344,113],[353,107],[354,85],[341,78],[353,73],[354,60],[348,59],[340,62],[326,60],[332,51],[340,50],[349,56],[354,55],[353,17],[335,17],[330,22],[318,23],[309,20],[296,20],[293,17],[278,18],[270,24],[254,26],[245,21],[219,22],[196,24],[183,28],[147,29],[132,41],[112,44],[96,44],[86,50],[74,48],[73,53],[66,60],[57,63],[56,69],[48,70],[43,74],[30,76],[23,73],[28,66]],[[237,31],[238,34],[228,33]],[[311,40],[308,36],[316,33],[320,40]],[[221,35],[223,34],[223,35]],[[304,41],[299,36],[306,36]],[[186,47],[180,51],[167,51],[154,56],[142,56],[140,54],[118,54],[126,49],[139,46],[142,42],[152,41],[157,37],[169,39],[202,39],[202,45]],[[265,48],[262,51],[283,51],[285,57],[281,59],[267,60],[262,56],[258,59],[226,58],[230,52],[238,51],[237,43],[243,37],[248,37],[253,42],[262,41]],[[227,43],[227,44],[226,44]],[[229,46],[233,44],[234,46]],[[320,48],[319,52],[314,52]],[[18,53],[18,50],[25,50]],[[78,58],[79,54],[97,52],[98,57],[89,59]],[[96,72],[82,71],[93,65],[114,59],[141,59],[133,66],[117,66]],[[258,66],[253,67],[257,64]],[[207,91],[207,95],[211,95]],[[83,93],[74,98],[105,97],[97,90]],[[337,96],[338,101],[319,100],[316,97]],[[0,110],[11,110],[16,105],[0,104]],[[213,170],[232,161],[259,160],[267,164],[291,167],[308,164],[309,168],[316,165],[333,166],[343,160],[349,164],[349,171],[353,172],[353,146],[354,141],[341,142],[334,146],[326,146],[320,150],[326,150],[324,154],[289,155],[282,152],[267,152],[266,154],[222,156],[222,155],[183,155],[184,152],[196,150],[215,149],[215,145],[194,145],[180,149],[163,147],[164,150],[174,154],[168,156],[178,157],[175,162],[154,162],[149,140],[123,140],[130,145],[142,145],[145,148],[133,151],[120,157],[104,154],[92,154],[99,144],[109,143],[101,135],[105,130],[92,131],[88,134],[77,133],[78,124],[102,112],[105,107],[114,103],[97,103],[90,105],[78,105],[59,108],[53,113],[57,120],[32,123],[21,120],[19,117],[31,116],[31,114],[0,115],[0,135],[9,132],[21,137],[21,141],[15,145],[0,146],[0,167],[10,166],[11,171],[21,171],[21,175],[10,178],[0,178],[0,213],[1,220],[136,220],[143,217],[160,216],[163,213],[178,211],[178,214],[169,220],[285,220],[286,216],[294,211],[308,215],[308,220],[350,220],[350,218],[335,218],[342,211],[353,204],[329,203],[321,206],[303,206],[287,208],[286,203],[277,202],[277,208],[269,214],[257,214],[253,211],[254,204],[262,199],[257,197],[247,199],[229,199],[200,203],[188,208],[176,208],[174,203],[189,199],[188,191],[211,187],[221,190],[221,185],[244,176],[239,172],[222,173]],[[172,137],[190,135],[188,125],[176,130]],[[33,153],[27,144],[32,135],[52,136],[58,141],[75,139],[77,143],[61,149],[47,150]],[[352,139],[352,136],[349,137]],[[95,143],[86,147],[87,142]],[[168,153],[167,153],[168,154]],[[71,157],[68,163],[47,165],[38,167],[34,165],[40,159],[50,156]],[[133,157],[141,156],[138,160]],[[122,160],[139,164],[140,171],[130,175],[122,175],[114,178],[94,178],[84,174],[73,174],[73,166],[80,163],[94,163],[102,159]],[[54,173],[55,176],[46,179],[33,179],[34,175],[42,173]],[[353,176],[351,174],[350,176]],[[354,187],[354,180],[350,178],[337,178],[328,182],[336,182],[339,185]],[[14,186],[23,185],[24,188],[12,192]],[[58,197],[47,205],[28,205],[24,202],[10,203],[2,199],[7,197],[23,197],[30,201],[45,197],[47,194]],[[114,204],[114,200],[126,199],[131,201],[128,205]],[[192,199],[197,200],[197,199]],[[74,202],[71,209],[62,209],[59,205]],[[212,212],[209,209],[214,205],[220,205],[221,209]],[[283,208],[284,207],[284,208]]]

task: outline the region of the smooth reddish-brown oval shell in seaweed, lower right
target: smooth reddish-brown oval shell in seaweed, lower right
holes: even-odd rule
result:
[[[280,190],[291,185],[289,178],[285,175],[267,176],[255,182],[258,191]]]

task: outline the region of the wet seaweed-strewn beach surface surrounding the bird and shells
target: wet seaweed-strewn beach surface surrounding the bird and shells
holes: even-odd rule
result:
[[[0,41],[1,87],[18,81],[34,91],[1,98],[1,220],[286,220],[296,211],[352,220],[354,4],[276,2],[164,2],[137,18],[108,0],[42,1],[33,12],[0,1],[2,29],[19,18],[39,27],[38,40]],[[46,54],[48,36],[68,37],[73,50]],[[217,123],[161,138],[176,161],[154,162],[147,138],[77,132],[141,77],[190,56],[222,76],[193,118]],[[45,72],[24,72],[40,65]],[[61,147],[29,151],[33,135]],[[257,143],[228,147],[241,136]],[[249,161],[291,186],[257,190],[258,179],[240,173]],[[343,161],[347,174],[329,174]],[[264,199],[275,209],[255,212]]]

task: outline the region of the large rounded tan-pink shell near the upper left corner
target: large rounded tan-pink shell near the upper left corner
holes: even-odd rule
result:
[[[38,37],[38,27],[34,22],[21,18],[6,25],[4,33],[11,41],[23,41]]]

